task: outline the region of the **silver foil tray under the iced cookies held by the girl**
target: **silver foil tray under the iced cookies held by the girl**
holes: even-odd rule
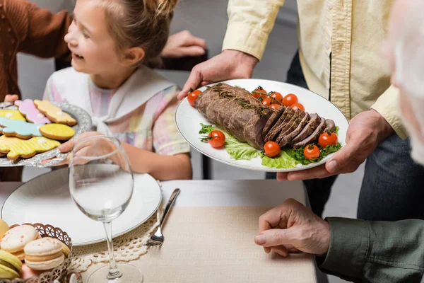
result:
[[[78,121],[78,123],[72,128],[75,130],[75,135],[71,138],[76,139],[78,135],[83,132],[90,131],[91,117],[88,113],[78,108],[74,105],[70,105],[68,103],[52,103],[57,105],[59,108],[64,110],[64,112],[71,115],[74,119]],[[0,109],[17,109],[11,103],[0,103]],[[15,167],[15,166],[31,166],[31,167],[48,167],[54,165],[54,163],[58,163],[63,161],[68,154],[62,154],[59,149],[52,149],[51,151],[44,152],[42,154],[36,154],[31,158],[18,158],[16,161],[9,160],[6,156],[0,157],[0,167]],[[42,164],[42,161],[47,159],[54,158],[52,161],[48,161]]]

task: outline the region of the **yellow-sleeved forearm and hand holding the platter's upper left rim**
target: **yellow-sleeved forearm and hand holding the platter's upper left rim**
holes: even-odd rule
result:
[[[192,69],[178,99],[209,83],[251,78],[283,4],[284,0],[229,0],[223,52]]]

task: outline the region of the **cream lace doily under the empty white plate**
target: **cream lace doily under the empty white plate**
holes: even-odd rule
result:
[[[128,233],[114,238],[114,257],[117,261],[129,262],[137,260],[147,253],[147,246],[143,246],[159,225],[158,219],[163,214],[163,206],[146,222]],[[113,224],[113,223],[112,223]],[[107,243],[96,243],[90,246],[73,247],[71,272],[84,272],[93,263],[109,262]]]

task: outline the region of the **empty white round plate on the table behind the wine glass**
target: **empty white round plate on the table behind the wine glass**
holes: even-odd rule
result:
[[[162,191],[148,174],[134,174],[134,193],[124,213],[112,221],[113,237],[143,224],[158,209]],[[71,200],[68,168],[40,175],[18,187],[4,202],[1,218],[8,224],[42,223],[69,234],[73,246],[106,241],[102,223],[94,221]]]

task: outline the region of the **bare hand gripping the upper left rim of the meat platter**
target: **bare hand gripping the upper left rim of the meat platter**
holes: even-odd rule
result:
[[[196,65],[184,84],[178,99],[186,97],[190,89],[206,86],[216,81],[228,79],[249,79],[259,60],[252,55],[237,50],[224,50],[221,54]]]

